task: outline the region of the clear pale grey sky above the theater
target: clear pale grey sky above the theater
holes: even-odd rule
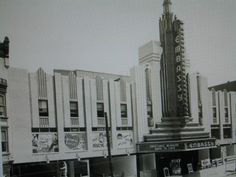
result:
[[[129,74],[138,48],[159,41],[163,0],[0,0],[10,66]],[[209,86],[236,80],[236,1],[172,0],[191,72]]]

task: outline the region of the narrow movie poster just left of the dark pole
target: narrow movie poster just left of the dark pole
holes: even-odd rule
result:
[[[94,150],[103,150],[107,148],[106,132],[93,132],[92,144]]]

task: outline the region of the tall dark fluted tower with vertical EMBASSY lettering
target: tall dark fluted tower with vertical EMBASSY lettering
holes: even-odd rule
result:
[[[171,1],[163,3],[159,21],[161,59],[161,88],[164,117],[190,117],[188,75],[184,57],[183,22],[171,12]]]

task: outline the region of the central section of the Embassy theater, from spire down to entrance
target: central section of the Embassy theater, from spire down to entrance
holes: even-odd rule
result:
[[[153,117],[152,121],[150,118],[144,120],[144,115],[137,114],[141,122],[138,126],[145,125],[142,121],[150,121],[149,128],[143,130],[138,139],[138,165],[142,170],[143,164],[147,163],[146,159],[142,160],[142,154],[152,152],[159,176],[187,174],[190,169],[196,171],[202,160],[210,158],[209,149],[216,147],[207,123],[207,82],[199,74],[188,73],[183,22],[171,12],[169,0],[163,3],[159,31],[160,43],[143,46],[139,53],[141,66],[134,69],[134,75],[141,72],[146,75],[143,78],[144,83],[146,79],[146,90],[141,88],[142,84],[136,84],[137,92],[143,92],[138,94],[137,100],[145,100],[142,105],[136,102],[137,110],[145,106],[144,114]],[[140,78],[135,81],[142,82]],[[155,105],[157,100],[158,106]]]

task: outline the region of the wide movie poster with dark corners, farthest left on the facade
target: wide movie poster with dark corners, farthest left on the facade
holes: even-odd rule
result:
[[[33,153],[58,152],[57,133],[33,133]]]

